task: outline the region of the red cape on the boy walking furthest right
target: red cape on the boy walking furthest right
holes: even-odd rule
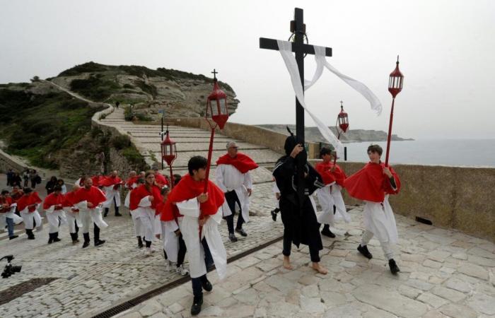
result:
[[[359,200],[383,202],[385,194],[400,192],[400,179],[397,173],[388,167],[395,178],[397,189],[393,190],[390,180],[383,174],[385,163],[367,163],[361,170],[345,179],[344,186],[350,196]]]

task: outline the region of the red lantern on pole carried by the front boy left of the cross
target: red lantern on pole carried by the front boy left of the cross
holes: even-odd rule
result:
[[[208,100],[206,100],[206,122],[211,127],[211,135],[210,135],[210,145],[208,148],[208,161],[206,163],[206,179],[204,182],[204,193],[206,193],[208,189],[208,178],[210,172],[211,165],[211,153],[213,153],[213,139],[215,136],[216,126],[219,126],[220,129],[223,129],[227,120],[228,120],[228,106],[227,106],[227,95],[220,89],[219,82],[216,79],[216,73],[218,73],[215,69],[211,72],[213,73],[213,91],[208,96]]]

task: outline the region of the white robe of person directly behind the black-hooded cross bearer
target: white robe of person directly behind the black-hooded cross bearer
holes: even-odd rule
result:
[[[351,222],[351,216],[347,213],[341,190],[342,187],[340,187],[339,184],[332,182],[332,184],[327,184],[325,187],[316,191],[318,202],[320,202],[320,206],[323,209],[320,216],[318,216],[318,223],[334,225],[336,220],[342,218],[347,223]]]

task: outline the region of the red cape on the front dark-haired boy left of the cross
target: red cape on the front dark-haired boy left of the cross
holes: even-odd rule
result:
[[[161,220],[172,220],[174,216],[180,216],[179,209],[173,203],[193,199],[202,194],[203,191],[204,181],[194,181],[189,174],[182,177],[180,182],[168,194],[165,207],[161,211]],[[199,210],[202,215],[212,216],[219,211],[223,201],[225,201],[225,196],[223,191],[210,180],[208,180],[208,190],[206,192],[208,192],[208,201],[200,204]]]

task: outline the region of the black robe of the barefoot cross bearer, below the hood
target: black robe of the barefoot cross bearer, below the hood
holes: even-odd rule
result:
[[[284,223],[284,228],[291,232],[294,245],[299,247],[300,244],[303,244],[321,250],[323,245],[320,236],[320,223],[316,219],[309,196],[316,189],[325,187],[325,184],[322,183],[320,174],[308,163],[305,164],[305,172],[308,176],[304,179],[304,199],[303,203],[300,204],[296,186],[296,159],[290,155],[284,155],[276,162],[273,175],[276,186],[280,190],[279,206],[282,223]]]

